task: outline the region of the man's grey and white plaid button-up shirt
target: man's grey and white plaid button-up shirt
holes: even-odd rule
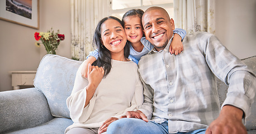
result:
[[[256,78],[245,64],[207,32],[184,37],[179,55],[168,52],[171,41],[139,61],[144,84],[140,111],[158,123],[168,120],[169,133],[207,128],[220,113],[217,76],[229,85],[222,107],[230,104],[249,116]]]

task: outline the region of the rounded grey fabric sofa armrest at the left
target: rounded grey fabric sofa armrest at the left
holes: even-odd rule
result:
[[[34,127],[51,119],[48,102],[36,88],[0,92],[0,133]]]

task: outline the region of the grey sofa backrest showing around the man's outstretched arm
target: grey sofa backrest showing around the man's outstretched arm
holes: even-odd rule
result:
[[[256,56],[243,59],[242,61],[248,66],[248,68],[253,70],[254,74],[256,74]],[[217,88],[219,93],[220,104],[222,104],[226,98],[228,86],[221,80],[217,79]],[[256,130],[256,97],[254,97],[254,103],[252,104],[251,114],[245,120],[245,127],[247,130]]]

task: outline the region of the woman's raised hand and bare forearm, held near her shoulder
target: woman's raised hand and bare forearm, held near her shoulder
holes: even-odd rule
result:
[[[96,88],[98,87],[99,83],[101,83],[104,72],[105,71],[102,67],[99,68],[98,66],[88,64],[87,76],[89,84],[86,87],[86,104],[84,104],[84,107],[86,107],[92,99]]]

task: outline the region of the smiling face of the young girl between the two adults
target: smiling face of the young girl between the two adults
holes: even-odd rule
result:
[[[143,37],[143,26],[138,16],[127,16],[124,18],[124,28],[127,40],[132,44],[140,42]]]

